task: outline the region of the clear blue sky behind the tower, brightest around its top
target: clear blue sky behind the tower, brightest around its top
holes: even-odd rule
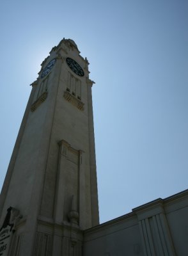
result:
[[[187,189],[188,1],[1,1],[0,188],[40,64],[90,62],[100,223]]]

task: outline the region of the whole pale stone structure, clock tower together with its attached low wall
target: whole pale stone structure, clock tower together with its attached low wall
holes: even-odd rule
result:
[[[185,256],[188,191],[99,225],[88,60],[61,40],[31,84],[0,196],[0,256]]]

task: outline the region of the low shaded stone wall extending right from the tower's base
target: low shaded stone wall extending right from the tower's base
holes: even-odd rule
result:
[[[84,232],[83,256],[187,256],[188,190]]]

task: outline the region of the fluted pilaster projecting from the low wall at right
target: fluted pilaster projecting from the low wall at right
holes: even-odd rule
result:
[[[137,207],[133,212],[139,221],[145,256],[175,256],[162,199]]]

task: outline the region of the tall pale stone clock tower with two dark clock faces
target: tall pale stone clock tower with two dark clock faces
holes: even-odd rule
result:
[[[63,38],[31,84],[1,191],[0,255],[79,256],[82,230],[99,223],[88,64]]]

